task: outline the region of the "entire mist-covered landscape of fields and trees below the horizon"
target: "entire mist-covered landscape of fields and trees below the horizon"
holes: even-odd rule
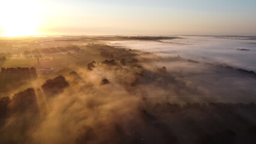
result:
[[[0,38],[1,143],[255,143],[256,40]]]

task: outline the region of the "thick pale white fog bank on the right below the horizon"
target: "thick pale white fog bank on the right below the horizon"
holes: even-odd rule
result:
[[[160,43],[162,42],[162,43]],[[179,36],[173,40],[111,41],[114,46],[256,70],[256,37]]]

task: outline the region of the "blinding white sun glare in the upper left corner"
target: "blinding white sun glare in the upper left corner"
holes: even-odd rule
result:
[[[35,1],[8,0],[0,2],[1,35],[20,37],[37,35],[40,11]]]

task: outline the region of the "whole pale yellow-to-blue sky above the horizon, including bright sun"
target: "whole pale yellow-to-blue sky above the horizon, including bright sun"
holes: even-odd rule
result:
[[[256,35],[255,0],[1,0],[0,35]]]

